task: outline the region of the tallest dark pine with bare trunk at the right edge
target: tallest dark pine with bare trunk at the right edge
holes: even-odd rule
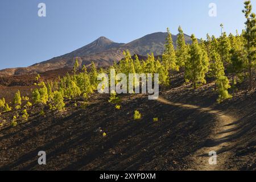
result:
[[[255,60],[256,60],[256,18],[255,14],[251,13],[252,6],[251,1],[245,1],[245,9],[242,10],[242,12],[245,14],[246,22],[246,30],[245,30],[245,49],[246,49],[246,55],[247,55],[247,71],[249,74],[249,90],[253,89],[253,68],[255,66]]]

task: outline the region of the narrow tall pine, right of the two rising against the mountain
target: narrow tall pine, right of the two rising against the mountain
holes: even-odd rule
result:
[[[177,48],[176,48],[176,59],[177,59],[177,67],[182,68],[185,65],[185,60],[188,56],[188,49],[185,43],[184,33],[181,27],[179,26],[179,34],[177,35]]]

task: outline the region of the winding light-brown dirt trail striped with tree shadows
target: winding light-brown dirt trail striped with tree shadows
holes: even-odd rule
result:
[[[225,162],[228,161],[229,152],[221,152],[225,147],[230,146],[230,142],[228,142],[228,138],[230,135],[234,133],[232,130],[236,125],[233,123],[236,122],[236,118],[223,113],[220,110],[213,110],[210,107],[200,107],[196,105],[189,104],[180,104],[170,102],[162,97],[158,98],[159,102],[163,104],[184,107],[187,109],[198,109],[203,112],[207,112],[209,114],[213,114],[216,117],[216,127],[213,127],[212,133],[209,134],[210,142],[207,142],[205,146],[200,148],[193,154],[193,169],[192,170],[205,170],[205,171],[213,171],[213,170],[226,170]],[[217,152],[217,164],[210,165],[209,164],[209,152],[216,151]]]

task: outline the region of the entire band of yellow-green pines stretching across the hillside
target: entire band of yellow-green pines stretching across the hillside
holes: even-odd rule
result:
[[[251,11],[251,2],[246,1],[242,10],[246,18],[245,30],[241,34],[237,32],[236,35],[229,34],[227,36],[226,32],[221,32],[219,38],[207,34],[207,39],[200,41],[196,39],[195,35],[192,35],[192,43],[186,44],[183,30],[179,27],[176,49],[170,30],[167,28],[168,34],[162,60],[155,59],[153,53],[148,55],[146,60],[139,60],[137,55],[135,55],[135,59],[132,59],[129,51],[126,51],[124,52],[125,58],[118,64],[114,63],[110,68],[97,70],[96,65],[92,62],[91,70],[88,72],[85,65],[80,69],[76,59],[72,75],[67,73],[63,78],[59,77],[55,81],[47,83],[40,82],[40,75],[36,76],[36,81],[39,84],[35,84],[38,85],[38,88],[32,91],[32,101],[34,104],[48,104],[50,109],[63,110],[64,98],[73,99],[82,96],[87,99],[97,89],[98,73],[109,74],[112,68],[116,73],[125,73],[127,80],[129,73],[159,73],[159,84],[162,85],[162,88],[170,85],[174,72],[184,71],[184,80],[192,82],[193,89],[205,84],[206,77],[211,77],[215,82],[214,89],[219,95],[218,102],[232,97],[228,90],[231,88],[234,94],[237,81],[248,78],[249,90],[252,90],[256,65],[256,18]],[[222,28],[221,24],[221,30]],[[115,93],[112,94],[115,97]],[[22,100],[27,101],[23,106]],[[27,109],[32,106],[28,100],[30,100],[28,97],[21,97],[19,91],[15,93],[13,106],[16,110],[24,107],[23,118],[28,117]],[[13,108],[6,103],[5,98],[0,99],[0,113],[11,109]]]

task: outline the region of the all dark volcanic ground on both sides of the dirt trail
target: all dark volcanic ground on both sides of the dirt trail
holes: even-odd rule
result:
[[[193,91],[189,84],[160,93],[172,102],[213,107],[237,118],[234,133],[225,140],[230,152],[225,169],[256,169],[255,92],[237,93],[234,100],[216,104],[213,84]],[[121,96],[121,109],[108,95],[94,94],[86,107],[69,101],[65,111],[33,106],[28,121],[11,127],[10,111],[0,116],[0,169],[32,170],[180,170],[196,169],[195,154],[210,142],[216,117],[198,109],[162,104],[136,95]],[[45,115],[40,115],[41,110]],[[134,110],[142,119],[134,121]],[[157,122],[153,118],[158,117]],[[100,131],[102,130],[102,131]],[[102,133],[106,133],[106,137]],[[225,131],[222,131],[225,132]],[[222,141],[222,140],[221,140]],[[224,142],[224,141],[223,141]],[[38,165],[38,152],[46,151],[47,165]]]

